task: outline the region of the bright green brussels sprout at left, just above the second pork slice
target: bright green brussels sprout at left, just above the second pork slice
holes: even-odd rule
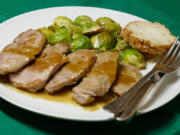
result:
[[[71,40],[71,33],[65,27],[62,27],[51,35],[48,41],[50,44],[56,44],[59,42],[70,43]]]

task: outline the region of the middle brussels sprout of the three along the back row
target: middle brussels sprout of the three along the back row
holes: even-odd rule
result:
[[[93,20],[86,16],[86,15],[81,15],[78,16],[75,20],[74,20],[74,24],[79,25],[79,26],[84,26],[86,23],[92,23]]]

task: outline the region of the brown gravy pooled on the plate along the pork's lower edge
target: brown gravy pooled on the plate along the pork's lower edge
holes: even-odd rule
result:
[[[87,111],[99,110],[103,106],[107,105],[108,103],[112,102],[114,99],[117,98],[117,96],[115,96],[114,94],[108,93],[104,97],[97,98],[95,100],[95,102],[93,102],[89,105],[81,106],[78,103],[76,103],[72,98],[72,95],[73,95],[72,87],[65,87],[55,94],[48,94],[44,90],[37,92],[37,93],[30,93],[25,90],[17,89],[9,83],[9,80],[7,79],[7,77],[0,76],[0,83],[5,85],[6,87],[10,88],[11,90],[15,90],[19,93],[25,94],[27,96],[31,96],[33,98],[41,98],[41,99],[55,101],[55,102],[63,102],[66,104],[72,104],[73,106],[83,108],[84,110],[87,110]]]

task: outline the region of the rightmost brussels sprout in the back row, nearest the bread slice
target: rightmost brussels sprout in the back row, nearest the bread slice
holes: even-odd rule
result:
[[[113,33],[114,35],[121,32],[121,26],[111,18],[100,17],[96,20],[96,23],[100,25],[105,31]]]

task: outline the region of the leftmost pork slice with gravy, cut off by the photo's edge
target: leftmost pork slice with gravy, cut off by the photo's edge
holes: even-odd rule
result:
[[[0,52],[0,75],[22,69],[35,59],[45,44],[45,37],[35,30],[27,30],[15,38]]]

